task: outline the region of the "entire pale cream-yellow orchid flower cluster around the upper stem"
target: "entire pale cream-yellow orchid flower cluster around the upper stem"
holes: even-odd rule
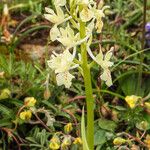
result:
[[[47,14],[44,14],[44,16],[54,24],[50,30],[50,39],[59,41],[65,50],[61,54],[53,53],[48,61],[48,66],[56,74],[57,85],[65,85],[66,88],[69,88],[72,84],[72,79],[75,78],[71,74],[71,70],[80,67],[79,65],[83,63],[82,57],[79,60],[76,59],[76,56],[81,56],[80,53],[77,54],[76,49],[82,43],[89,43],[90,39],[92,39],[94,28],[97,33],[101,33],[102,19],[105,17],[104,10],[107,6],[102,7],[101,3],[97,6],[93,0],[70,0],[69,2],[55,0],[53,4],[55,9],[46,7]],[[65,8],[67,8],[66,12],[64,11]],[[81,22],[85,24],[86,33],[84,37],[81,36]],[[108,86],[111,86],[112,79],[109,67],[113,65],[110,62],[113,50],[111,49],[104,56],[100,49],[100,53],[95,57],[90,50],[90,44],[86,45],[87,52],[91,58],[103,69],[101,79]],[[82,67],[80,70],[82,70]]]

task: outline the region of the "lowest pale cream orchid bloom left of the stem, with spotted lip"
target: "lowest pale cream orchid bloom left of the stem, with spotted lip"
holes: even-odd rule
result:
[[[74,76],[70,74],[69,70],[77,68],[79,65],[73,62],[76,55],[76,48],[74,48],[73,54],[69,50],[65,50],[62,54],[52,55],[52,59],[48,61],[48,66],[55,71],[57,85],[65,85],[69,88],[72,84]]]

